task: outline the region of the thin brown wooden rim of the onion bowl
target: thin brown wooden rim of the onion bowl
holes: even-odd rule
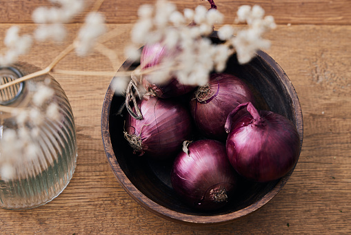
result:
[[[290,97],[292,97],[292,106],[294,107],[294,115],[297,119],[296,120],[297,131],[300,136],[300,143],[301,143],[300,153],[301,153],[302,142],[303,142],[303,117],[302,117],[302,110],[301,110],[299,98],[297,97],[297,93],[294,89],[294,86],[292,86],[290,79],[285,74],[281,66],[279,66],[279,64],[277,64],[277,62],[275,62],[274,59],[270,57],[270,55],[263,52],[262,50],[259,50],[257,52],[257,57],[260,57],[265,62],[267,62],[268,66],[270,66],[272,68],[272,71],[274,71],[277,77],[279,77],[279,79],[283,83],[283,86],[285,86],[285,89],[286,91],[288,91],[288,94],[290,95]],[[124,68],[129,68],[131,64],[132,62],[130,60],[127,60],[122,64],[121,68],[119,68],[119,71],[124,70]],[[252,205],[245,207],[243,209],[240,209],[236,212],[231,212],[228,214],[221,214],[216,216],[194,216],[190,214],[182,214],[180,212],[175,212],[171,209],[168,209],[166,207],[163,207],[155,203],[153,200],[151,200],[143,193],[141,193],[141,191],[139,191],[139,189],[137,189],[137,187],[135,187],[132,184],[132,182],[128,179],[126,174],[119,166],[117,158],[114,155],[114,151],[112,149],[112,143],[110,140],[110,104],[112,102],[113,96],[114,96],[114,89],[112,88],[112,82],[111,82],[110,86],[108,86],[105,99],[103,100],[103,109],[101,112],[101,135],[103,140],[103,147],[105,149],[108,162],[110,163],[110,167],[114,172],[114,176],[117,178],[120,185],[132,198],[134,198],[134,200],[137,201],[137,203],[139,203],[142,207],[148,209],[148,211],[154,214],[157,214],[162,218],[166,218],[168,220],[172,220],[179,223],[190,223],[190,224],[230,223],[232,222],[232,220],[248,215],[251,212],[256,211],[257,209],[261,208],[263,205],[268,203],[283,188],[285,183],[290,178],[292,172],[294,171],[294,168],[296,167],[296,164],[295,164],[293,169],[289,171],[289,173],[287,173],[285,176],[283,176],[283,178],[281,178],[281,180],[277,182],[277,185],[275,185],[274,188],[268,192],[268,194],[265,194],[265,196],[263,196],[256,203],[253,203]],[[299,156],[300,156],[300,153],[299,153]]]

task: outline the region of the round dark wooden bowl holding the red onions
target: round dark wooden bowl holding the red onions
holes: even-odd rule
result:
[[[127,61],[121,66],[121,70],[132,69],[134,66],[137,64]],[[301,106],[294,87],[281,67],[269,55],[259,51],[252,62],[243,66],[238,64],[236,57],[231,57],[227,68],[225,73],[232,73],[249,84],[258,101],[258,109],[274,111],[294,122],[302,146]],[[230,223],[268,203],[285,185],[294,170],[272,182],[243,181],[239,186],[240,195],[218,211],[201,212],[192,209],[182,203],[172,189],[172,162],[155,162],[132,154],[132,149],[123,138],[123,117],[117,115],[123,101],[124,97],[114,95],[110,85],[101,117],[103,145],[108,162],[128,194],[150,212],[163,218],[192,225]]]

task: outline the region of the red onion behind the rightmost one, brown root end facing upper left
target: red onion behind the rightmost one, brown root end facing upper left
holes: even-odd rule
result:
[[[241,79],[226,73],[215,73],[210,76],[208,85],[200,86],[194,92],[190,111],[203,135],[225,140],[224,124],[228,114],[245,102],[254,102],[254,96]]]

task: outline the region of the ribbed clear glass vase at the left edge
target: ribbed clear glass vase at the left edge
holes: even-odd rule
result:
[[[39,68],[24,63],[0,68],[0,84],[35,71]],[[59,118],[44,115],[38,117],[42,118],[39,124],[20,125],[18,111],[27,111],[28,115],[43,112],[33,102],[43,84],[54,93],[40,109],[57,104]],[[68,98],[52,76],[42,75],[1,90],[0,104],[4,110],[12,110],[0,112],[0,207],[28,209],[48,203],[66,188],[77,162],[74,117]],[[12,139],[7,136],[10,133]],[[6,168],[8,164],[10,169]],[[11,171],[7,178],[3,177],[5,171]]]

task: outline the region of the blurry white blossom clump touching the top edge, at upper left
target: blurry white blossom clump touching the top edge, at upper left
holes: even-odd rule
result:
[[[53,39],[63,41],[66,37],[64,23],[70,22],[73,17],[84,9],[83,0],[50,0],[59,4],[59,7],[42,6],[32,12],[32,20],[38,24],[34,31],[35,39],[44,41]]]

